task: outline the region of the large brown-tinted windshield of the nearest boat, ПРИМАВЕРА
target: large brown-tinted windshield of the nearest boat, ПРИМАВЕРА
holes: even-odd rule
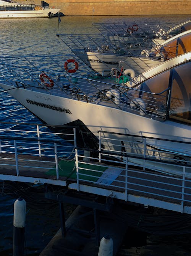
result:
[[[191,61],[168,69],[128,90],[147,113],[191,124]]]

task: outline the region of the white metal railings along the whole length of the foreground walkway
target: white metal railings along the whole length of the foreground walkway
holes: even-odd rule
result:
[[[1,180],[67,185],[191,214],[190,142],[102,131],[99,149],[92,150],[77,147],[75,127],[63,133],[43,125],[10,126],[0,129]]]

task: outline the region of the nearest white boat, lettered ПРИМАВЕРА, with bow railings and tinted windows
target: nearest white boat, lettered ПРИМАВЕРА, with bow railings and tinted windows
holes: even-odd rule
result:
[[[112,144],[103,139],[102,150],[113,147],[117,153],[123,148],[131,163],[141,165],[145,159],[136,156],[147,155],[158,163],[146,168],[163,172],[164,162],[159,160],[166,160],[165,172],[176,175],[183,171],[168,168],[168,155],[172,162],[191,163],[191,52],[161,62],[124,84],[30,71],[3,61],[0,68],[4,90],[45,124],[78,126],[77,142],[86,148],[95,146],[100,130],[117,140]],[[184,169],[188,177],[190,166]]]

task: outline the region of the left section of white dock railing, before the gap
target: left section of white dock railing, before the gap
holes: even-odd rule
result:
[[[28,128],[26,129],[26,124],[25,127],[18,124],[10,129],[0,129],[0,168],[4,169],[5,175],[6,170],[7,174],[16,170],[16,176],[20,177],[19,181],[26,181],[21,178],[26,176],[26,172],[29,177],[39,172],[40,177],[40,173],[55,170],[58,180],[58,159],[74,157],[75,128],[71,129],[71,134],[51,132],[46,126],[38,124],[29,124]]]

